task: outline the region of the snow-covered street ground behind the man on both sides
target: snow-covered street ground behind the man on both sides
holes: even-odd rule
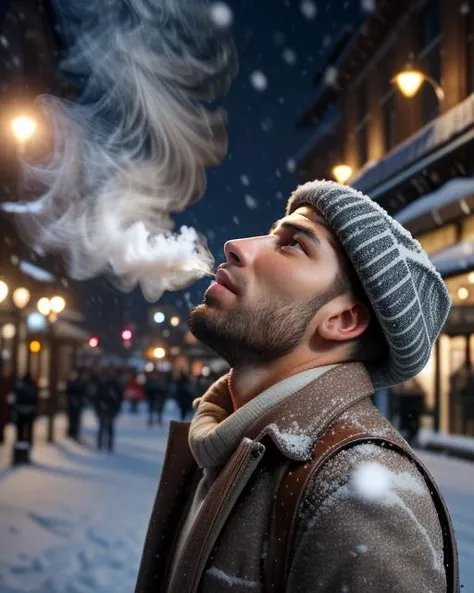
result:
[[[166,417],[177,417],[172,402]],[[57,424],[63,434],[64,419]],[[40,420],[39,442],[44,431]],[[91,413],[83,432],[85,446],[39,444],[30,467],[8,469],[0,447],[0,593],[133,591],[167,429],[148,429],[144,410],[125,412],[114,455],[94,450]],[[474,463],[422,457],[453,516],[463,591],[474,591]]]

